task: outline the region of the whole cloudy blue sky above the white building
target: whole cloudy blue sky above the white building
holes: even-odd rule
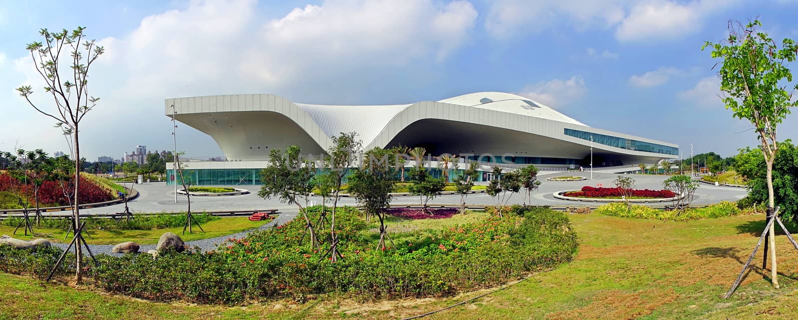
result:
[[[760,17],[798,39],[798,2],[693,1],[57,1],[0,2],[0,150],[67,151],[14,88],[34,86],[26,43],[38,29],[87,27],[106,54],[89,75],[101,97],[81,153],[172,149],[164,99],[274,93],[302,103],[391,104],[515,92],[591,127],[678,143],[685,157],[755,146],[718,97],[704,41],[729,19]],[[744,132],[741,132],[744,131]],[[798,115],[780,127],[798,139]],[[222,155],[178,127],[189,157]]]

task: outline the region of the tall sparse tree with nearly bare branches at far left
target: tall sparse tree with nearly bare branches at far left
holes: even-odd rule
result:
[[[80,226],[80,174],[81,145],[78,126],[83,117],[97,106],[100,98],[89,96],[89,68],[97,57],[105,53],[102,46],[87,40],[85,28],[77,27],[72,32],[49,32],[41,29],[39,34],[44,41],[34,41],[26,46],[34,61],[34,68],[45,81],[44,92],[53,100],[54,106],[48,108],[30,100],[34,89],[30,85],[17,88],[19,95],[36,111],[55,120],[65,135],[71,135],[70,149],[75,160],[74,182],[74,227]],[[75,246],[75,283],[81,283],[83,276],[83,254],[80,245]]]

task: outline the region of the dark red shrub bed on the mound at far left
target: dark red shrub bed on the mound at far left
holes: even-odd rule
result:
[[[60,181],[43,181],[41,187],[39,187],[39,203],[69,205],[68,197],[72,197],[75,188],[73,181],[74,178],[70,181],[65,181],[63,186]],[[81,177],[80,188],[81,204],[110,201],[114,199],[113,194],[84,177]],[[25,193],[30,197],[30,203],[34,201],[33,187],[10,177],[7,173],[0,174],[0,191]],[[64,191],[66,191],[66,195]]]

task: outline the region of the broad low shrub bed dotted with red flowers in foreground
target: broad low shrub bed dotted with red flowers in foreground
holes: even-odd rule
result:
[[[320,212],[321,207],[308,209],[314,221]],[[307,235],[303,239],[300,216],[229,239],[213,252],[164,253],[155,260],[101,256],[101,267],[89,275],[106,291],[161,301],[235,303],[322,294],[390,299],[496,286],[571,260],[577,245],[567,216],[550,209],[486,217],[385,250],[375,249],[373,232],[366,234],[357,209],[339,208],[335,223],[343,258],[334,263],[326,253],[330,229],[318,230],[323,244],[312,247]]]

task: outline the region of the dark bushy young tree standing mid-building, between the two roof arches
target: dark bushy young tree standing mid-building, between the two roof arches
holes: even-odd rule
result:
[[[380,240],[377,248],[385,248],[389,239],[385,227],[385,210],[391,203],[391,191],[396,181],[396,158],[393,150],[374,147],[366,151],[361,166],[349,177],[350,193],[354,194],[366,217],[380,220]],[[387,162],[386,162],[387,161]],[[391,240],[393,248],[393,240]]]

